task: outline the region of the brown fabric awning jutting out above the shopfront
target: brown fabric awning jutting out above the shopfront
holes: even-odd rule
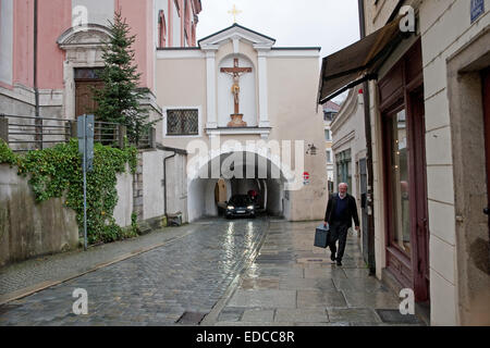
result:
[[[404,37],[400,20],[397,17],[359,41],[323,58],[318,90],[320,104],[365,80],[377,78],[376,72]]]

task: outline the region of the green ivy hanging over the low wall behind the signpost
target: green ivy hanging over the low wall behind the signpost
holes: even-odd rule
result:
[[[50,198],[65,198],[64,204],[76,212],[78,226],[84,223],[82,158],[76,139],[53,148],[28,151],[16,156],[0,140],[0,163],[19,167],[19,175],[29,175],[29,185],[37,202]],[[111,148],[95,144],[94,171],[87,173],[87,235],[88,243],[109,243],[136,236],[135,228],[122,229],[113,211],[118,203],[117,174],[124,173],[126,163],[136,172],[137,149]]]

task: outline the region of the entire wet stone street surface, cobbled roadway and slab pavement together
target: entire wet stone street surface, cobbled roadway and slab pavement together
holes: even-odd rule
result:
[[[0,325],[388,324],[377,310],[397,311],[400,300],[368,276],[357,237],[339,268],[313,246],[316,225],[264,217],[171,228],[174,239],[161,247],[1,306]],[[88,293],[88,315],[72,312],[76,288]]]

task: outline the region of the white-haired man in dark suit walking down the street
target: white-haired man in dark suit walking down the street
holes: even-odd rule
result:
[[[359,231],[356,200],[347,194],[347,184],[342,183],[339,185],[339,192],[330,196],[323,221],[324,226],[330,226],[329,247],[332,251],[330,259],[336,261],[336,265],[342,265],[347,231],[352,227],[353,220],[356,231]],[[339,240],[339,252],[336,252],[336,240]]]

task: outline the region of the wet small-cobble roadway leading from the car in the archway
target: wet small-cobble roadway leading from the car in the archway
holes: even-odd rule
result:
[[[208,313],[257,249],[267,220],[199,224],[169,245],[0,307],[0,325],[175,325]],[[75,315],[73,290],[88,294]]]

